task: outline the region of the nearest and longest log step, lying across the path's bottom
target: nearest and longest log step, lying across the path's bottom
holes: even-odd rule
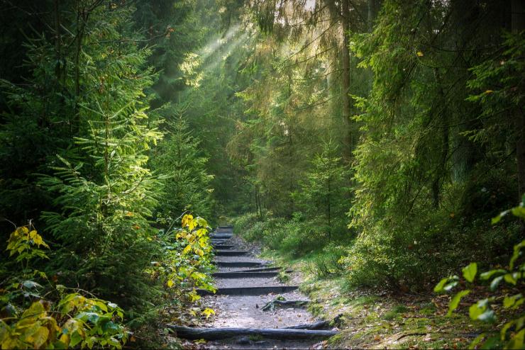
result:
[[[184,339],[220,340],[233,337],[262,337],[267,339],[326,339],[338,332],[328,330],[286,329],[286,328],[190,328],[168,325]]]

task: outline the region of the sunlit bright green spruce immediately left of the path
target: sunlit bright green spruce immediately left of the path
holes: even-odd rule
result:
[[[42,215],[61,246],[55,271],[67,284],[140,308],[155,290],[145,269],[156,249],[148,218],[160,183],[146,165],[161,134],[145,113],[154,77],[145,66],[150,51],[132,36],[132,13],[113,4],[84,23],[82,57],[68,57],[80,74],[67,72],[63,87],[74,96],[80,80],[81,94],[70,99],[74,145],[48,163],[53,174],[39,185],[55,198]]]

